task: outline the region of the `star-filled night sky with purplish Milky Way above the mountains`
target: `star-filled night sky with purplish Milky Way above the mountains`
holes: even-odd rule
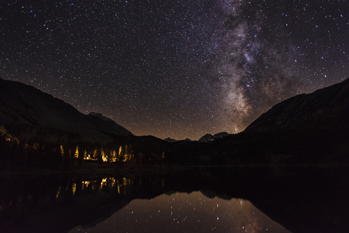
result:
[[[238,133],[349,68],[349,3],[1,1],[0,77],[135,135]]]

